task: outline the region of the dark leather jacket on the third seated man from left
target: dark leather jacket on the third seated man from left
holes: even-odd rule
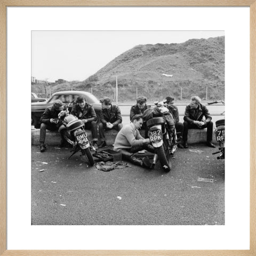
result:
[[[100,122],[102,124],[107,124],[110,122],[114,126],[122,123],[121,110],[118,106],[112,105],[109,109],[102,109],[100,115]]]

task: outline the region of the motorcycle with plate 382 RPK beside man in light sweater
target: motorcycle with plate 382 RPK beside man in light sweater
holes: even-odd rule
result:
[[[177,150],[177,134],[175,132],[174,118],[172,118],[169,109],[167,108],[166,101],[154,102],[157,107],[157,114],[151,115],[148,119],[150,111],[145,111],[143,117],[148,121],[146,126],[148,129],[148,138],[151,145],[155,148],[155,152],[165,172],[171,171],[172,163],[171,156]],[[155,163],[154,157],[154,163]],[[153,164],[154,164],[153,163]]]

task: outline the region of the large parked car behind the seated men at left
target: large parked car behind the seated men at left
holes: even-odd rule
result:
[[[101,103],[93,94],[83,91],[63,91],[53,93],[52,97],[45,102],[31,103],[31,125],[34,125],[35,128],[40,127],[40,117],[43,115],[47,107],[53,105],[55,100],[61,100],[63,103],[68,105],[70,102],[73,102],[79,95],[84,95],[86,102],[93,106],[99,118]],[[69,109],[71,109],[71,107],[72,105],[69,107]]]

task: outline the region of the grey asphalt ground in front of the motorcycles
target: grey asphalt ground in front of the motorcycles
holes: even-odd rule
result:
[[[216,149],[179,149],[169,173],[159,163],[103,172],[79,153],[67,159],[69,151],[31,148],[32,225],[225,224],[225,160]]]

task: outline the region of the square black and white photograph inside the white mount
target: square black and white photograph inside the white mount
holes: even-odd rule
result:
[[[225,225],[225,31],[31,31],[31,225]]]

